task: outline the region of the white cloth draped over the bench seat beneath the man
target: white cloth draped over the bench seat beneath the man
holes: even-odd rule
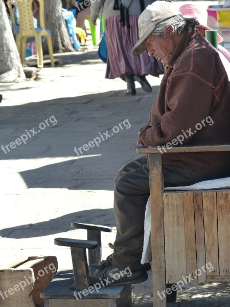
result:
[[[210,189],[230,189],[230,177],[206,180],[184,187],[168,187],[164,191],[188,191],[188,190],[210,190]],[[150,197],[145,210],[145,235],[141,264],[151,261],[151,206]]]

